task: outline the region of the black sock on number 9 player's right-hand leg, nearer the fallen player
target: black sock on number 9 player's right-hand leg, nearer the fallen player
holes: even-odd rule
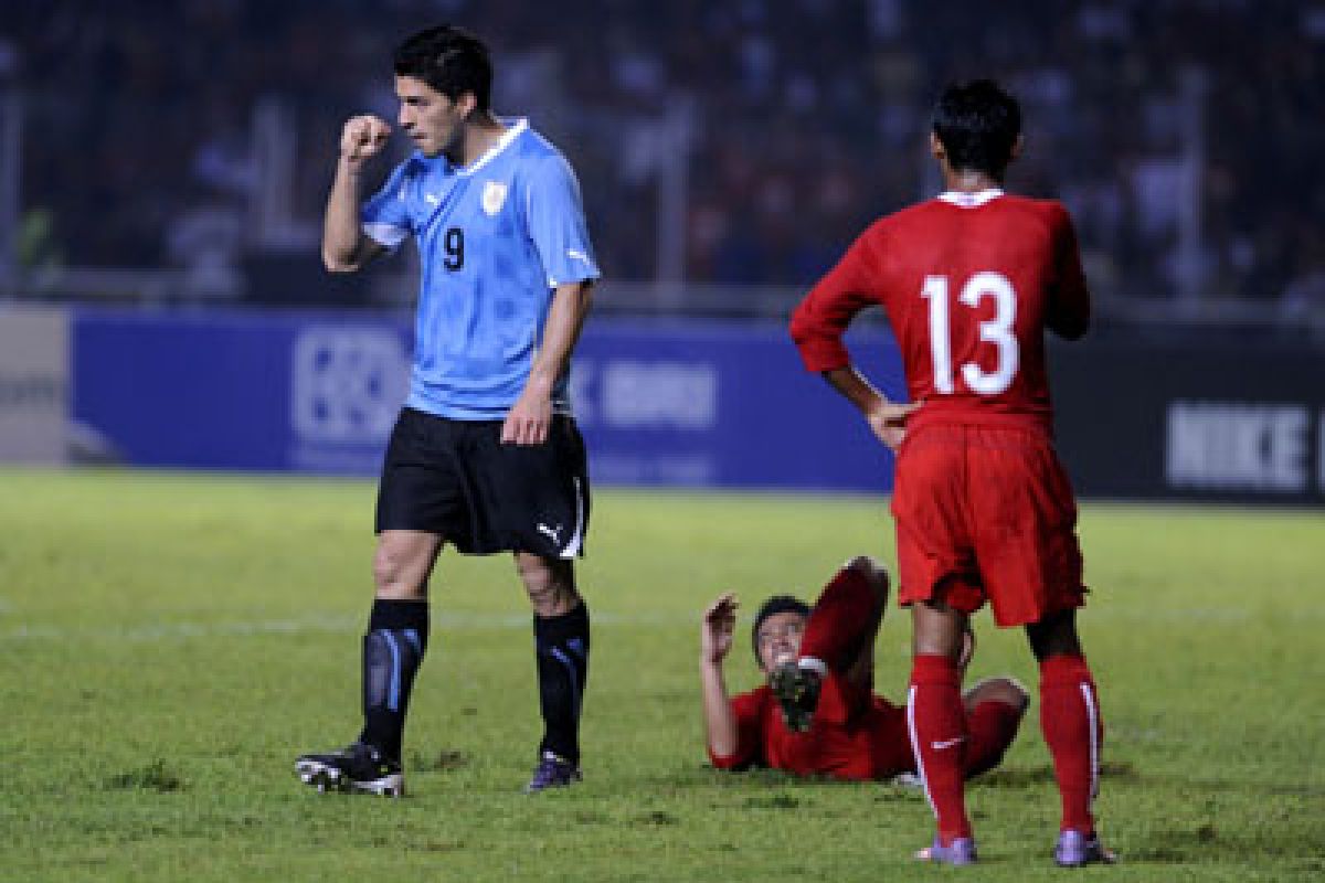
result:
[[[538,704],[543,712],[541,752],[579,763],[579,714],[588,676],[588,606],[559,617],[534,617]]]

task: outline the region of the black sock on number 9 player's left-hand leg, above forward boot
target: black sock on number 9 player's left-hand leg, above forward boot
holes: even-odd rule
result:
[[[359,741],[400,760],[413,676],[428,647],[428,602],[372,602],[363,635],[363,732]]]

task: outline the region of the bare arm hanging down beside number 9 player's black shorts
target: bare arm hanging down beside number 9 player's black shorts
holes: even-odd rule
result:
[[[543,342],[534,355],[529,380],[501,428],[502,442],[541,445],[553,422],[553,388],[566,371],[592,299],[592,281],[556,286],[543,324]]]

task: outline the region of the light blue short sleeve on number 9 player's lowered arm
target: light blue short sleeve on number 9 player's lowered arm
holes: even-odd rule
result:
[[[553,154],[535,160],[525,188],[529,238],[538,252],[549,287],[599,278],[579,181],[566,159]]]

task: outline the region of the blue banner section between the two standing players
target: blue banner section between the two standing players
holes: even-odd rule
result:
[[[857,346],[901,395],[896,347]],[[599,323],[575,364],[594,474],[607,483],[888,490],[892,458],[807,373],[780,324]]]

